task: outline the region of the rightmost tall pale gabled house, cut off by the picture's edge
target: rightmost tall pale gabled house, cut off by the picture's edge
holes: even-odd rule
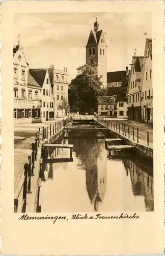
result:
[[[153,122],[152,90],[152,39],[146,38],[141,81],[142,120]]]

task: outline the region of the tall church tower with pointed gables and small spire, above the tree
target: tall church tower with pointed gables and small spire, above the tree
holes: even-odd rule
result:
[[[91,30],[86,45],[86,64],[94,67],[97,70],[98,76],[102,76],[101,81],[104,88],[107,87],[106,47],[103,31],[99,30],[99,24],[96,18],[94,30]]]

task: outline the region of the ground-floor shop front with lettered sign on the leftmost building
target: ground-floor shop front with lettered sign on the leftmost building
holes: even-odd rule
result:
[[[14,99],[15,118],[40,118],[41,103],[39,100]]]

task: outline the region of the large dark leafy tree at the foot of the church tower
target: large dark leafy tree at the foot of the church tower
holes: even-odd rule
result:
[[[95,68],[89,65],[76,70],[77,75],[69,84],[69,104],[76,106],[79,111],[97,111],[98,96],[105,93],[101,76],[98,77]]]

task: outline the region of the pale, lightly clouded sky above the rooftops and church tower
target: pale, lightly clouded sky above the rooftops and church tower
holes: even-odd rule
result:
[[[20,44],[29,68],[67,68],[69,80],[86,62],[86,48],[94,22],[99,22],[107,45],[107,72],[125,70],[134,56],[143,56],[151,37],[150,13],[17,13],[14,42]]]

